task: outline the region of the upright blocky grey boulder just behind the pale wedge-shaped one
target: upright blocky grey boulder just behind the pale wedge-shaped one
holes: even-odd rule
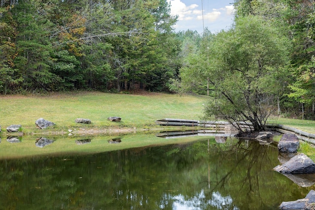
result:
[[[294,134],[284,134],[278,143],[278,150],[280,152],[295,153],[299,146],[300,141]]]

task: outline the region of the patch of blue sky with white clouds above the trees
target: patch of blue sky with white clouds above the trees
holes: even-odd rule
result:
[[[233,23],[234,0],[170,0],[171,15],[178,15],[175,31],[208,28],[212,33],[228,30]],[[202,9],[203,8],[203,9]]]

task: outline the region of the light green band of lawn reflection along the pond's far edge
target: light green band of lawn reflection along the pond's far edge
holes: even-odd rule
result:
[[[34,155],[91,154],[147,147],[151,145],[188,143],[207,139],[207,137],[198,136],[185,139],[164,139],[156,137],[155,133],[147,132],[98,136],[23,136],[18,138],[19,143],[12,143],[12,141],[7,141],[6,138],[10,139],[10,137],[5,136],[1,138],[0,159],[21,158]],[[119,142],[119,144],[113,144],[117,139],[120,139],[121,142]]]

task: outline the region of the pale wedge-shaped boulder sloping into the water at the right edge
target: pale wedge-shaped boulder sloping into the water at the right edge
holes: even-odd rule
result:
[[[276,166],[274,170],[284,174],[314,174],[315,163],[307,155],[301,153],[295,155],[283,165]]]

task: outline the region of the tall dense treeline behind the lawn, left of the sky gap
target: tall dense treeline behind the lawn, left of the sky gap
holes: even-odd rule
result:
[[[1,0],[0,91],[167,90],[180,43],[167,0]]]

